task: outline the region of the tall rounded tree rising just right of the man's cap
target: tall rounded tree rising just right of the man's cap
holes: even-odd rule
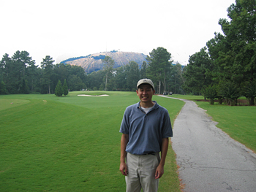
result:
[[[163,47],[157,47],[157,50],[153,49],[146,60],[148,61],[147,74],[148,77],[153,80],[154,84],[164,85],[163,91],[166,90],[167,74],[170,72],[171,54]],[[157,86],[156,86],[157,87]],[[159,87],[159,93],[160,93]]]

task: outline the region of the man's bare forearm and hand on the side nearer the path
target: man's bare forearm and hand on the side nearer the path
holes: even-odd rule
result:
[[[161,149],[161,161],[159,163],[159,166],[157,166],[156,174],[154,176],[155,179],[159,179],[160,177],[162,177],[162,174],[164,174],[165,158],[167,155],[168,145],[169,145],[169,138],[163,138],[162,149]]]

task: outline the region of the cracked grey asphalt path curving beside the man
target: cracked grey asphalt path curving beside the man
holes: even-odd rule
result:
[[[186,104],[174,122],[171,141],[183,191],[255,192],[256,154],[217,128],[194,101],[180,100]]]

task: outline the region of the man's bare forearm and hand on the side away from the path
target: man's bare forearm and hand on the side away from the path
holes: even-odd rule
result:
[[[127,147],[127,143],[129,141],[129,135],[128,134],[122,134],[121,136],[121,156],[120,156],[120,167],[119,170],[121,174],[124,174],[124,176],[127,176],[128,170],[127,170],[127,164],[125,162],[125,158],[127,156],[127,152],[125,151]]]

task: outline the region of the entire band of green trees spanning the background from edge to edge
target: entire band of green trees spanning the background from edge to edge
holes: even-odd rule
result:
[[[157,47],[146,56],[142,66],[135,61],[113,68],[114,61],[102,58],[102,70],[86,74],[80,66],[53,65],[46,56],[41,67],[29,53],[17,51],[12,58],[5,54],[0,65],[0,94],[54,93],[60,80],[67,80],[69,91],[135,91],[138,80],[153,80],[156,93],[203,95],[214,104],[225,101],[234,105],[246,96],[250,105],[256,97],[256,1],[236,0],[227,8],[227,19],[219,19],[223,34],[206,42],[199,52],[189,56],[183,68],[173,64],[171,53]]]

